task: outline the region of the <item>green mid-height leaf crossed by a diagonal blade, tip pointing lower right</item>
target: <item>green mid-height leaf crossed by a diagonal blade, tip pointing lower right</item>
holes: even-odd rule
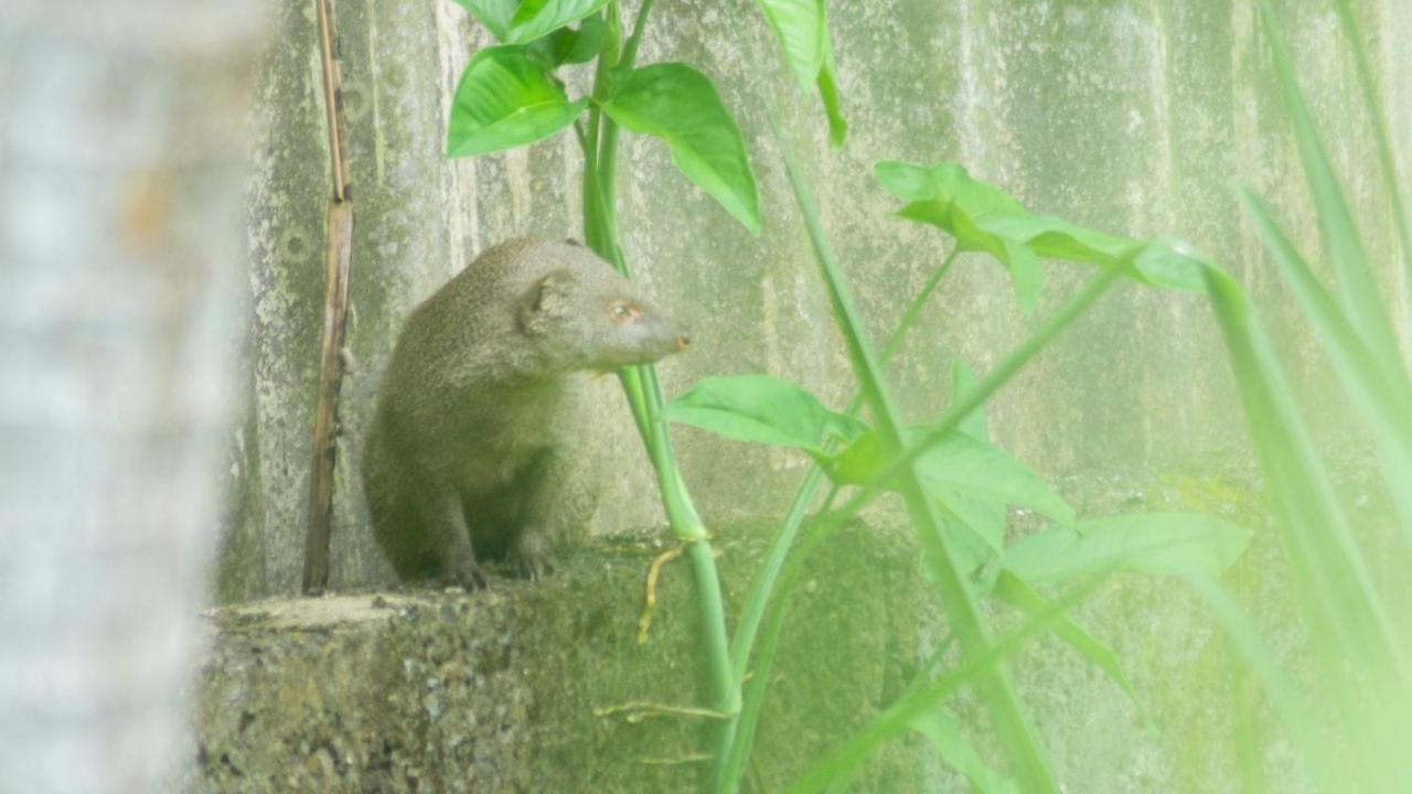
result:
[[[926,427],[908,428],[908,444],[925,437],[926,431]],[[881,437],[868,432],[839,454],[832,475],[844,483],[870,482],[890,463],[888,452]],[[1003,449],[963,432],[947,435],[923,452],[912,466],[922,489],[973,530],[981,531],[993,524],[984,513],[974,511],[986,510],[987,502],[1028,507],[1062,526],[1075,523],[1073,507],[1039,475]],[[998,537],[987,541],[1000,550]]]

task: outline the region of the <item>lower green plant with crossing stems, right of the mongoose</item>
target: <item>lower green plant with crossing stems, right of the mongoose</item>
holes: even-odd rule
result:
[[[854,398],[842,414],[829,411],[798,386],[761,376],[709,379],[668,407],[672,421],[741,441],[794,446],[819,463],[806,478],[777,534],[737,626],[731,653],[741,678],[757,636],[762,639],[755,650],[743,713],[727,732],[717,754],[716,790],[734,790],[744,773],[785,605],[809,552],[882,492],[899,493],[908,504],[923,559],[947,610],[963,661],[935,681],[931,671],[923,671],[878,721],[823,759],[791,790],[815,791],[847,780],[870,750],[904,730],[919,730],[932,739],[945,759],[967,770],[976,786],[1018,783],[1025,791],[1055,790],[1029,718],[1008,682],[1004,658],[1032,633],[1053,630],[1130,697],[1134,692],[1114,654],[1065,617],[1066,609],[1051,610],[1032,585],[1083,579],[1075,592],[1060,598],[1069,605],[1082,600],[1104,575],[1124,568],[1207,581],[1234,562],[1245,547],[1248,533],[1195,514],[1077,520],[1043,480],[990,444],[980,408],[1120,277],[1155,287],[1200,288],[1202,263],[1166,243],[1117,237],[1056,218],[1031,215],[1012,198],[971,179],[955,164],[933,168],[880,164],[880,181],[907,202],[899,212],[902,218],[936,226],[956,239],[952,256],[904,312],[904,321],[885,345],[888,352],[895,349],[915,319],[921,301],[950,268],[960,250],[986,251],[1004,264],[1015,278],[1022,305],[1032,305],[1038,298],[1039,257],[1100,267],[1100,274],[1084,290],[981,381],[971,384],[966,369],[957,366],[950,408],[931,425],[908,428],[887,398],[880,362],[860,331],[847,285],[833,263],[808,186],[788,155],[786,170],[815,246],[820,277],[834,304],[834,319],[843,331],[863,387],[860,398]],[[875,417],[877,428],[857,420],[863,403]],[[789,552],[805,507],[825,478],[834,482],[826,504],[833,503],[840,486],[861,489],[819,521]],[[1055,526],[1005,547],[1004,523],[1010,506],[1029,507],[1049,517]],[[1029,615],[1029,623],[1014,636],[995,641],[977,608],[977,600],[987,596]],[[956,729],[955,716],[936,711],[942,698],[963,684],[981,685],[995,733],[1005,746],[1018,781],[1007,781],[991,770],[977,767],[980,756]]]

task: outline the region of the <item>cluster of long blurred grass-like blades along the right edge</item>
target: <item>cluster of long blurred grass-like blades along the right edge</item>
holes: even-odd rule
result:
[[[1313,689],[1293,685],[1292,675],[1279,665],[1240,605],[1216,588],[1206,588],[1203,595],[1298,743],[1320,790],[1408,791],[1412,787],[1412,770],[1405,760],[1405,749],[1412,740],[1412,664],[1408,658],[1412,643],[1408,608],[1412,603],[1398,583],[1374,575],[1371,561],[1381,558],[1381,567],[1396,571],[1412,564],[1408,554],[1412,541],[1412,492],[1408,489],[1412,483],[1412,414],[1408,410],[1412,373],[1398,352],[1381,300],[1388,292],[1377,284],[1353,212],[1299,90],[1276,16],[1265,0],[1260,8],[1323,247],[1337,275],[1333,294],[1264,202],[1251,191],[1243,191],[1241,199],[1310,331],[1324,348],[1353,408],[1350,418],[1367,428],[1372,439],[1377,451],[1372,479],[1387,493],[1387,504],[1380,511],[1364,511],[1360,526],[1354,526],[1347,510],[1354,494],[1334,485],[1334,463],[1315,442],[1284,367],[1260,326],[1255,307],[1233,278],[1209,267],[1207,290],[1230,352],[1271,509],[1285,541],[1320,685]],[[1408,222],[1363,37],[1348,3],[1337,0],[1334,8],[1353,51],[1406,264],[1412,254]],[[1357,449],[1357,442],[1344,442],[1333,454],[1346,458]],[[1380,524],[1395,531],[1391,537],[1380,533]],[[1245,754],[1261,754],[1262,747],[1252,736],[1240,733],[1237,740],[1245,746]],[[1258,774],[1248,771],[1247,783],[1258,786]]]

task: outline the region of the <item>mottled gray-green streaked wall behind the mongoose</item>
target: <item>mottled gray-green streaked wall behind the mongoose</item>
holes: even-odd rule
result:
[[[328,172],[311,3],[280,4],[258,81],[263,127],[250,178],[249,418],[233,439],[220,595],[291,592],[309,487]],[[1392,285],[1396,254],[1351,66],[1329,0],[1285,0],[1300,76],[1336,167]],[[1394,134],[1412,134],[1412,7],[1360,4]],[[1265,194],[1306,249],[1316,246],[1303,178],[1251,0],[908,0],[829,3],[847,146],[830,150],[812,97],[799,97],[748,0],[672,0],[654,10],[642,62],[705,71],[740,120],[760,179],[755,239],[692,188],[654,140],[626,137],[620,188],[630,261],[693,325],[698,343],[661,367],[669,394],[706,374],[770,372],[839,405],[851,383],[809,249],[788,198],[765,112],[784,107],[812,140],[825,220],[874,335],[945,254],[938,233],[892,218],[873,182],[884,158],[960,160],[1029,206],[1132,235],[1176,235],[1276,297],[1272,329],[1296,362],[1292,309],[1233,188]],[[473,254],[508,236],[578,236],[578,147],[568,134],[528,150],[442,160],[449,93],[489,41],[450,0],[339,0],[357,212],[339,449],[333,583],[384,581],[357,486],[377,374],[407,311]],[[585,75],[572,83],[585,86]],[[1404,172],[1406,168],[1404,168]],[[1089,273],[1046,270],[1052,309]],[[1401,322],[1408,319],[1401,307]],[[1008,278],[964,257],[892,367],[916,421],[945,404],[949,356],[994,365],[1035,326]],[[1298,363],[1316,387],[1323,373]],[[607,480],[596,528],[657,521],[655,486],[616,384],[600,383],[603,438],[587,469]],[[1334,414],[1332,389],[1316,389]],[[1046,473],[1162,466],[1243,444],[1224,353],[1195,295],[1123,288],[1004,391],[998,438]],[[779,510],[805,461],[689,429],[682,465],[705,516]],[[750,472],[746,475],[746,472]]]

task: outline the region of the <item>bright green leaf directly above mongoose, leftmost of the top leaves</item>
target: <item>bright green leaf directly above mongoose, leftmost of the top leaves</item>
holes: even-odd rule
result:
[[[446,157],[470,157],[544,140],[583,113],[524,47],[489,47],[466,64],[446,130]]]

